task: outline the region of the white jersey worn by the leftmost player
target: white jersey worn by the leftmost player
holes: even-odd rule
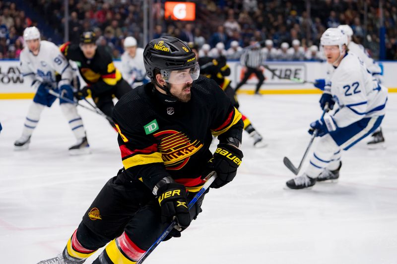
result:
[[[63,83],[70,84],[72,79],[73,72],[68,60],[58,47],[49,41],[40,41],[37,56],[25,47],[20,54],[20,66],[23,77],[30,78],[30,81],[39,80],[55,86],[57,73],[62,75]]]

